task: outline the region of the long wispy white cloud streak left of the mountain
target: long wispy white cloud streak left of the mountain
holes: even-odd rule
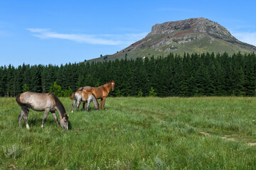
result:
[[[55,33],[50,29],[44,29],[44,28],[27,28],[27,30],[29,30],[33,36],[41,39],[56,38],[56,39],[72,40],[75,42],[94,44],[94,45],[129,45],[146,36],[146,33],[124,34],[124,35],[112,35],[112,34],[87,35],[87,34]]]

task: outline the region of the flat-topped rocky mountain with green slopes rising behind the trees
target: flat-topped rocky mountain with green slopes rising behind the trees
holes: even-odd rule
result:
[[[134,42],[114,55],[105,55],[90,61],[132,59],[167,55],[170,52],[256,52],[256,47],[237,40],[220,24],[206,18],[190,18],[156,24],[145,38]]]

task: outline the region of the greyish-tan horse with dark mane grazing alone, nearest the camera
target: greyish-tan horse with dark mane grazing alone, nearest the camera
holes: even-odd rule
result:
[[[21,114],[18,117],[18,126],[21,126],[21,119],[23,118],[26,128],[29,129],[27,119],[30,108],[32,108],[34,111],[45,111],[41,125],[42,128],[49,112],[52,113],[53,118],[58,125],[58,118],[55,114],[55,110],[57,110],[60,115],[61,127],[68,130],[68,115],[65,112],[63,103],[61,103],[54,94],[38,94],[27,91],[16,96],[16,101],[18,105],[21,106]]]

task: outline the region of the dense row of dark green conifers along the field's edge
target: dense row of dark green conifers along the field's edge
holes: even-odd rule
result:
[[[111,96],[255,96],[256,55],[169,54],[136,60],[0,67],[0,96],[23,91],[69,96],[115,80]],[[57,92],[56,92],[57,91]]]

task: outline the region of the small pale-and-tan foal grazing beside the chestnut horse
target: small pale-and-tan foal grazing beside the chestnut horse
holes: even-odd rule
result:
[[[74,99],[73,104],[72,104],[72,111],[71,111],[72,113],[74,110],[75,103],[77,103],[76,107],[77,107],[77,111],[79,111],[80,102],[82,102],[82,101],[83,101],[83,110],[85,110],[85,102],[87,102],[86,111],[89,111],[89,105],[90,105],[91,101],[95,105],[95,110],[99,109],[99,103],[97,103],[97,99],[90,92],[75,91],[71,95],[70,99]]]

